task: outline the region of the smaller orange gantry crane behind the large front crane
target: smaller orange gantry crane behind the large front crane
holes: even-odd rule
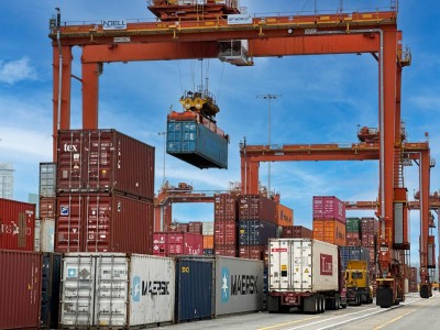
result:
[[[244,194],[256,194],[255,187],[258,184],[258,167],[262,162],[297,162],[297,161],[372,161],[380,160],[380,143],[353,143],[353,144],[295,144],[295,145],[246,145],[241,144],[241,176]],[[420,195],[425,196],[429,191],[430,148],[428,142],[408,143],[400,145],[400,155],[409,160],[418,161],[420,166]],[[377,302],[381,306],[388,306],[389,302],[397,304],[405,299],[404,296],[404,274],[403,265],[404,253],[409,250],[408,233],[408,199],[406,188],[398,188],[395,193],[394,211],[392,227],[385,227],[386,238],[393,242],[388,250],[384,250],[384,241],[378,235],[378,262],[382,273],[377,276],[378,295],[381,290],[387,296],[385,302]],[[399,195],[398,195],[399,194]],[[353,205],[352,205],[353,206]],[[381,201],[358,202],[353,207],[376,209],[380,216]],[[430,296],[430,279],[428,274],[428,233],[429,233],[429,204],[428,199],[420,202],[420,295],[428,298]],[[382,226],[386,222],[382,222]],[[386,270],[389,274],[384,276]],[[383,293],[382,293],[383,294]]]

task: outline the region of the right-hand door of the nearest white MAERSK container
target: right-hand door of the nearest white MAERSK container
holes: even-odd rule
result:
[[[96,257],[95,326],[124,327],[129,306],[129,262],[123,256]]]

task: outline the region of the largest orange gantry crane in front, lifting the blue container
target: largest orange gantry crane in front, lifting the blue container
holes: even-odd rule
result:
[[[378,304],[396,301],[391,252],[396,222],[395,205],[405,206],[397,168],[400,161],[402,69],[410,64],[397,30],[396,6],[388,11],[336,12],[312,15],[240,14],[234,1],[153,1],[154,22],[100,21],[62,24],[51,20],[53,40],[54,162],[58,130],[70,129],[72,48],[81,47],[82,128],[98,128],[99,76],[103,63],[220,58],[251,65],[253,57],[370,53],[378,63],[380,90],[380,219],[383,283]],[[226,7],[213,10],[218,3]],[[395,4],[395,1],[392,1]],[[168,8],[168,10],[164,10]],[[178,13],[178,21],[168,20]],[[205,15],[209,12],[209,15]],[[252,186],[249,193],[256,191]],[[400,221],[400,219],[399,219]],[[403,221],[403,220],[402,220]]]

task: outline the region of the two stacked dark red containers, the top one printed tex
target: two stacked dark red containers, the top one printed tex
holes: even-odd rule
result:
[[[114,130],[59,131],[57,252],[152,253],[154,147]]]

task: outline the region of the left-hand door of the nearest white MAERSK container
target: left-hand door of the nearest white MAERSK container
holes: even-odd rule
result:
[[[65,256],[61,323],[63,326],[95,326],[95,257]]]

